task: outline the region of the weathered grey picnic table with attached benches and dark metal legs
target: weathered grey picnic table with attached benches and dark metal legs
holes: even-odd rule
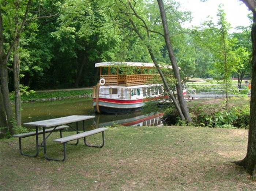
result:
[[[102,148],[105,144],[105,139],[104,139],[104,131],[107,130],[108,128],[98,128],[98,129],[93,129],[85,132],[85,126],[84,126],[84,121],[88,119],[92,119],[95,116],[67,116],[67,117],[60,117],[60,118],[54,118],[54,119],[49,119],[49,120],[42,120],[42,121],[35,121],[35,122],[28,122],[24,123],[23,125],[25,126],[34,126],[35,127],[35,132],[29,132],[29,133],[22,133],[18,135],[13,135],[14,137],[19,138],[19,151],[21,155],[25,156],[30,156],[30,157],[37,157],[39,154],[39,148],[38,147],[44,147],[44,156],[47,160],[55,160],[55,161],[64,161],[66,158],[66,144],[69,141],[72,140],[77,140],[75,144],[72,145],[77,145],[79,143],[79,139],[83,138],[84,139],[84,144],[88,147],[98,147]],[[83,132],[80,133],[78,130],[78,122],[82,121],[83,122]],[[76,123],[76,129],[72,127],[71,123]],[[45,129],[48,127],[53,127],[50,129]],[[38,128],[42,128],[42,130],[38,130]],[[62,137],[62,130],[66,128],[71,128],[76,131],[76,135],[71,135],[67,137]],[[64,148],[64,157],[63,159],[54,159],[50,158],[46,154],[46,139],[52,134],[54,131],[60,131],[60,138],[53,140],[54,143],[61,143],[63,144]],[[46,137],[46,133],[49,133],[49,135]],[[86,143],[86,137],[95,135],[97,133],[102,133],[102,145],[89,145]],[[39,145],[38,144],[38,135],[43,134],[43,141]],[[22,152],[22,144],[21,144],[21,138],[26,138],[30,136],[35,136],[35,147],[36,147],[36,153],[35,155],[29,155],[25,154]],[[69,143],[71,144],[71,143]]]

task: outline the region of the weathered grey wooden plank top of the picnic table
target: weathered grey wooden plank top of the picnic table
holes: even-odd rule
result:
[[[83,121],[87,119],[92,119],[95,116],[66,116],[66,117],[59,117],[49,120],[42,120],[42,121],[35,121],[35,122],[28,122],[24,123],[25,126],[38,126],[38,127],[52,127],[57,125],[64,125],[72,122]]]

